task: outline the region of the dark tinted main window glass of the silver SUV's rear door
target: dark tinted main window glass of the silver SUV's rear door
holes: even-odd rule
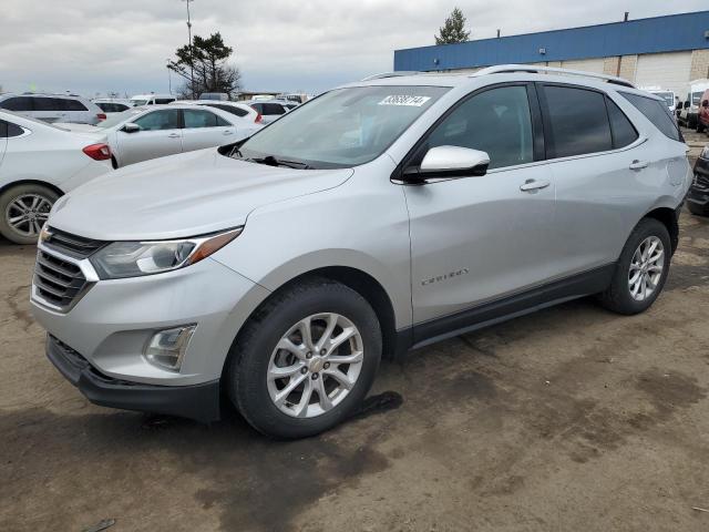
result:
[[[585,89],[545,85],[547,158],[613,149],[604,94]]]

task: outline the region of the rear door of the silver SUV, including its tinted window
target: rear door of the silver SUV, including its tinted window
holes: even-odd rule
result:
[[[537,86],[546,156],[556,184],[549,264],[559,277],[600,272],[617,260],[641,217],[643,195],[650,191],[643,185],[651,172],[644,140],[604,92],[578,85]]]

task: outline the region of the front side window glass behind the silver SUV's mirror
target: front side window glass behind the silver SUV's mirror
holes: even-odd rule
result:
[[[461,146],[486,152],[490,168],[534,161],[532,115],[525,86],[501,86],[461,103],[429,135],[414,164],[432,147]]]

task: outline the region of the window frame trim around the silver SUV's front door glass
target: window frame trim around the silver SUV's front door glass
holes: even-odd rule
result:
[[[486,173],[500,173],[507,172],[510,170],[515,170],[520,167],[526,167],[532,165],[537,165],[543,163],[544,156],[544,132],[543,132],[543,123],[542,123],[542,111],[541,111],[541,102],[538,99],[538,92],[534,86],[534,82],[531,81],[508,81],[504,83],[494,83],[485,86],[481,86],[473,92],[469,92],[463,95],[460,100],[458,100],[453,105],[448,108],[445,112],[440,115],[431,126],[425,130],[425,132],[419,137],[419,140],[413,144],[413,146],[407,152],[401,162],[397,165],[394,171],[391,173],[389,180],[397,185],[407,185],[407,186],[421,186],[427,183],[409,183],[403,180],[403,171],[409,166],[409,162],[417,155],[418,151],[421,149],[421,145],[429,139],[431,133],[435,131],[435,129],[443,123],[445,119],[448,119],[458,108],[463,105],[471,98],[475,98],[483,92],[487,92],[494,89],[502,89],[505,86],[524,86],[527,92],[527,102],[530,104],[530,114],[532,121],[532,161],[528,163],[520,163],[513,164],[510,166],[501,166],[499,168],[491,168]],[[306,102],[307,103],[307,102]],[[537,158],[538,157],[538,158]],[[446,181],[454,181],[461,177],[444,177],[436,178],[435,181],[431,181],[428,184],[443,183]],[[464,177],[463,177],[464,178]]]

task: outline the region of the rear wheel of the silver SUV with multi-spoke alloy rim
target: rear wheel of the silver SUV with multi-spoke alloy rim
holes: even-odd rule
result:
[[[659,253],[661,257],[656,258]],[[620,253],[610,286],[598,295],[600,304],[624,315],[647,310],[662,291],[670,258],[667,227],[655,218],[643,218]]]

